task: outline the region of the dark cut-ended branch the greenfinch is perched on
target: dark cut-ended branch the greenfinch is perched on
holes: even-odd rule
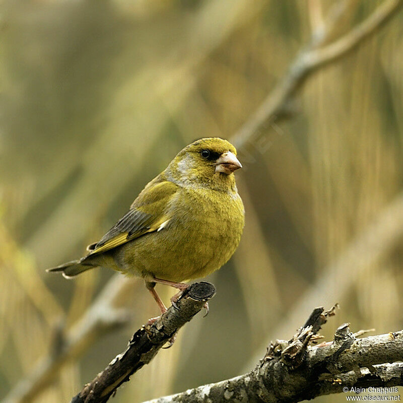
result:
[[[171,306],[151,326],[143,326],[128,343],[127,349],[117,355],[92,382],[72,399],[72,403],[103,403],[127,382],[130,376],[148,364],[162,348],[197,312],[214,296],[213,284],[192,284],[181,296],[176,306]]]

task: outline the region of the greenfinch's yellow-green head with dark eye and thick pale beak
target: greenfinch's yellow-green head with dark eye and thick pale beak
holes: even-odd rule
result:
[[[239,168],[242,165],[231,143],[207,138],[196,140],[181,150],[166,173],[180,184],[226,191],[235,186],[233,172]]]

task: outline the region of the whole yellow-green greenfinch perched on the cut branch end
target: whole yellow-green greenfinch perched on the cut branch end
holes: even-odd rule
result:
[[[141,277],[165,312],[156,283],[180,293],[188,287],[184,281],[213,273],[237,248],[244,208],[234,171],[241,167],[228,141],[195,141],[146,185],[98,242],[88,246],[87,255],[47,271],[71,278],[103,266]]]

